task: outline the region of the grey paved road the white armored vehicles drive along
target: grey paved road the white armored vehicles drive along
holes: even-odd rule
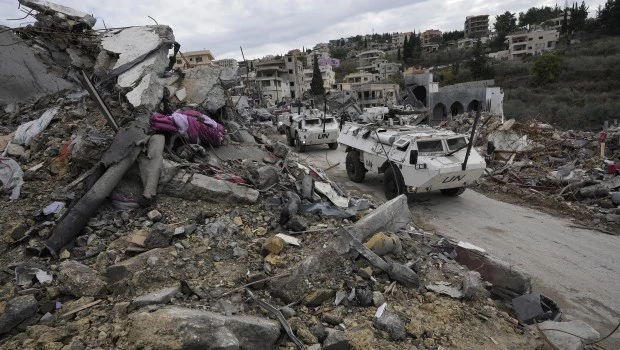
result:
[[[382,177],[367,174],[362,184],[347,178],[342,149],[315,146],[302,154],[347,190],[385,200]],[[410,208],[457,240],[468,241],[523,268],[534,290],[556,301],[565,319],[582,319],[607,335],[620,322],[620,238],[568,227],[567,220],[499,202],[472,190],[457,198],[423,194]],[[601,345],[620,349],[620,334]]]

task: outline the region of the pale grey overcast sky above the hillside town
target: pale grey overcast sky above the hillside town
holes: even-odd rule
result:
[[[590,16],[605,0],[590,0]],[[357,34],[426,29],[462,30],[469,15],[520,12],[555,6],[533,0],[58,0],[56,3],[93,14],[95,28],[149,25],[172,27],[181,51],[208,49],[216,59],[247,59]],[[564,2],[560,2],[563,6]],[[27,25],[17,0],[0,0],[0,24]]]

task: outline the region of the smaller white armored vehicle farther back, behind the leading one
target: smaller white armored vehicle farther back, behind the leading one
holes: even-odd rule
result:
[[[292,112],[279,116],[281,125],[290,146],[305,152],[307,146],[327,144],[329,149],[338,148],[338,122],[336,118],[318,109],[291,107]]]

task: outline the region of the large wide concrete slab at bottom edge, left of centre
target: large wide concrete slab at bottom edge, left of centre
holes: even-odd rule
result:
[[[274,349],[280,336],[280,324],[267,318],[227,317],[182,307],[140,312],[129,318],[132,348],[212,349],[219,344],[228,349],[243,344],[244,349]]]

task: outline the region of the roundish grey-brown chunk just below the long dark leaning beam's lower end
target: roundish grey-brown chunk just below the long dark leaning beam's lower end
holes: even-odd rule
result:
[[[60,290],[76,297],[94,297],[105,292],[106,283],[97,271],[74,261],[66,260],[60,264],[58,274]]]

